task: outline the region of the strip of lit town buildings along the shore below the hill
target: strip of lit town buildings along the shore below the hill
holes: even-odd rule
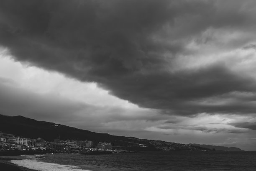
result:
[[[132,139],[131,139],[132,140]],[[145,144],[146,143],[146,144]],[[148,145],[155,148],[154,151],[211,151],[194,145],[170,143],[161,140],[143,140],[141,143],[130,145],[117,145],[111,142],[95,142],[92,140],[61,140],[60,137],[53,141],[43,138],[24,138],[18,135],[0,132],[0,151],[23,151],[44,153],[84,153],[88,151],[110,151],[114,153],[129,153],[148,150]],[[151,148],[152,149],[152,148]]]

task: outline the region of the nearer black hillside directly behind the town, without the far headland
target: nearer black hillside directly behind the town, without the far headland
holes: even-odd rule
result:
[[[154,145],[138,138],[95,133],[61,124],[37,121],[23,116],[0,115],[0,131],[25,138],[36,139],[40,137],[49,142],[55,138],[60,138],[61,140],[92,140],[95,143],[111,142],[113,145],[136,146],[138,144],[145,144],[148,148],[140,150],[158,151]]]

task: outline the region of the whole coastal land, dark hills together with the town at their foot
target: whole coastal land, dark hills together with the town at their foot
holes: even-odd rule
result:
[[[148,140],[95,133],[66,125],[37,121],[23,116],[0,115],[0,153],[3,151],[44,151],[81,153],[84,151],[130,153],[143,151],[241,151],[236,147]]]

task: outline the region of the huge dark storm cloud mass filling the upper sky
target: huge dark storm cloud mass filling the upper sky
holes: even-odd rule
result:
[[[97,82],[141,107],[176,115],[247,114],[256,110],[250,100],[235,98],[215,106],[195,102],[255,92],[251,77],[221,62],[170,70],[174,59],[187,53],[187,41],[208,28],[254,28],[253,12],[246,10],[252,5],[230,0],[2,0],[0,44],[18,61]]]

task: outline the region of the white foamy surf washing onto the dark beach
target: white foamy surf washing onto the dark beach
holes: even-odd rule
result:
[[[23,166],[26,168],[38,170],[38,171],[89,171],[84,169],[78,169],[77,166],[62,165],[56,163],[46,163],[37,160],[24,159],[24,160],[11,160],[12,163]]]

